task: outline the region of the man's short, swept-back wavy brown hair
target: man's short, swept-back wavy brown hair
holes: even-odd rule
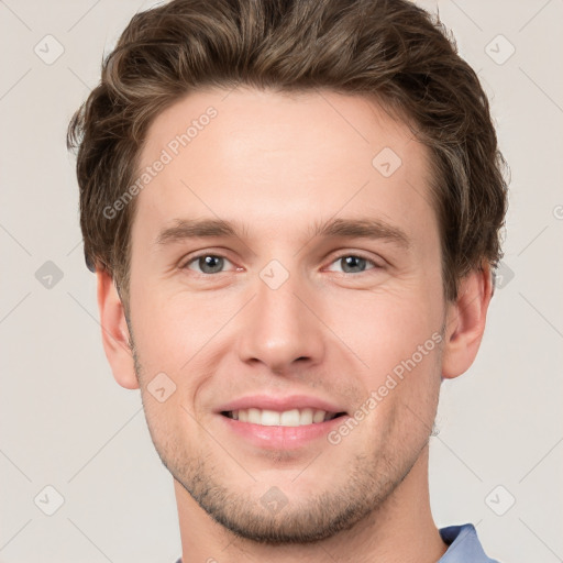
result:
[[[80,225],[90,269],[128,305],[135,177],[155,117],[189,92],[245,85],[373,97],[430,148],[444,296],[501,257],[507,197],[487,98],[442,24],[405,0],[174,0],[137,13],[74,115]]]

